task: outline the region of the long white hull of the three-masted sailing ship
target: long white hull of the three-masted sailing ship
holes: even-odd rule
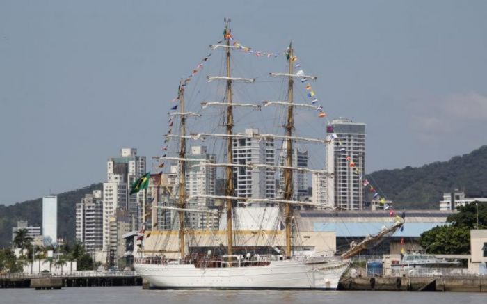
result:
[[[266,266],[197,268],[193,264],[134,264],[151,287],[166,289],[337,289],[349,262],[306,264],[273,261]]]

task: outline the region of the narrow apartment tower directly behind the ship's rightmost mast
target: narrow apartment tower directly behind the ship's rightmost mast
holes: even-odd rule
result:
[[[282,142],[279,154],[279,166],[286,166],[287,142]],[[308,168],[308,151],[300,151],[298,147],[292,150],[292,167]],[[304,171],[292,171],[294,200],[308,196],[308,175]],[[279,170],[279,192],[284,193],[284,170]]]

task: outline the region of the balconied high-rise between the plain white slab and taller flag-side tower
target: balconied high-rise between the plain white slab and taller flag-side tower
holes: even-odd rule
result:
[[[102,191],[95,190],[76,204],[76,239],[93,255],[103,247]]]

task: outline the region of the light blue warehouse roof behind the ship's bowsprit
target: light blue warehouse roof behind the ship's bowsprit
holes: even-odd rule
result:
[[[314,222],[313,230],[315,232],[333,231],[337,237],[365,237],[367,234],[376,234],[381,231],[383,225],[392,223],[384,222],[365,222],[365,223],[326,223]],[[445,223],[404,223],[403,231],[397,230],[394,237],[420,237],[420,234],[434,227],[445,225]]]

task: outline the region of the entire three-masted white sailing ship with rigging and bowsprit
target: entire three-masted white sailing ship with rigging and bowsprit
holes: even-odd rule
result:
[[[210,45],[210,49],[211,52],[221,52],[223,67],[220,70],[221,74],[207,76],[206,80],[209,85],[212,82],[221,83],[216,93],[223,96],[216,101],[200,99],[201,111],[191,112],[186,109],[185,97],[189,81],[202,69],[202,64],[209,60],[210,53],[193,70],[190,77],[180,82],[177,98],[171,107],[173,112],[170,113],[170,131],[166,134],[166,142],[170,141],[175,145],[173,152],[177,152],[177,155],[171,156],[170,149],[163,147],[163,155],[159,157],[159,161],[172,161],[175,164],[173,175],[170,177],[173,179],[174,187],[172,192],[169,191],[173,204],[167,200],[158,202],[161,200],[159,192],[153,195],[155,200],[152,202],[152,230],[144,232],[143,246],[136,253],[136,273],[152,287],[166,289],[336,289],[341,276],[349,267],[350,257],[378,239],[393,233],[401,227],[404,220],[398,218],[391,227],[384,227],[381,232],[367,237],[360,243],[352,243],[349,250],[341,255],[335,252],[334,248],[307,253],[306,240],[303,240],[303,235],[296,225],[294,212],[298,209],[325,207],[296,199],[294,173],[328,173],[325,169],[313,170],[296,165],[295,145],[326,145],[329,141],[327,138],[296,134],[295,118],[303,119],[303,116],[296,116],[298,111],[311,110],[313,117],[322,117],[324,113],[314,99],[308,103],[295,102],[294,86],[297,83],[313,81],[316,77],[305,74],[300,68],[292,44],[281,54],[254,51],[241,45],[232,35],[230,19],[225,19],[223,40]],[[281,81],[282,85],[282,99],[261,102],[234,101],[236,87],[241,99],[247,96],[246,93],[241,93],[241,86],[255,82],[252,78],[233,75],[234,71],[241,72],[247,68],[234,68],[233,64],[239,62],[238,58],[234,57],[248,54],[266,58],[286,58],[287,69],[284,72],[269,73],[270,79],[280,79],[278,81]],[[268,93],[265,86],[262,91]],[[314,93],[308,93],[308,96],[313,97]],[[214,110],[206,113],[205,110],[210,108]],[[269,113],[281,113],[280,121],[284,122],[284,125],[274,123],[275,134],[262,134],[255,129],[245,133],[234,131],[237,123],[242,121],[241,118],[235,120],[236,111],[248,111],[246,115],[250,117],[255,115],[252,123],[257,124],[270,121],[266,115],[255,114],[264,108],[275,108],[267,111]],[[205,115],[209,118],[205,123],[200,123],[199,127],[196,127],[198,129],[186,131],[189,120],[204,120]],[[205,132],[203,127],[212,123],[215,123],[216,127]],[[173,134],[173,125],[178,127],[177,134]],[[223,155],[222,159],[214,157],[214,154],[211,156],[202,153],[201,150],[191,151],[189,154],[189,141],[211,141],[214,143],[214,149]],[[250,153],[250,142],[255,143],[259,147],[257,150],[263,150],[264,154],[269,143],[274,145],[280,142],[281,161],[276,161],[272,157],[270,160],[253,157]],[[240,152],[235,154],[236,147],[240,146],[243,147],[242,151],[248,153],[248,157],[242,157]],[[224,183],[208,185],[205,176],[209,173],[215,175],[217,169],[223,173]],[[202,175],[190,175],[191,170],[198,170],[198,174]],[[273,185],[276,182],[276,172],[280,172],[280,191]],[[244,173],[260,175],[260,184],[253,186],[261,186],[264,189],[266,184],[262,179],[265,179],[266,175],[271,176],[271,182],[267,184],[270,191],[260,191],[260,197],[254,193],[237,192],[236,187],[239,184],[250,180],[248,176],[237,178],[240,173],[242,176]],[[189,181],[189,176],[192,176],[193,180]],[[159,178],[159,183],[163,184],[162,178]],[[145,210],[144,207],[144,213]],[[154,216],[155,210],[163,211],[166,216],[170,215],[169,227],[163,228],[160,223],[159,227],[156,227],[155,222],[159,220]],[[244,216],[244,212],[250,211],[254,212],[251,216]],[[198,225],[194,224],[195,221]],[[248,221],[257,223],[250,225]]]

